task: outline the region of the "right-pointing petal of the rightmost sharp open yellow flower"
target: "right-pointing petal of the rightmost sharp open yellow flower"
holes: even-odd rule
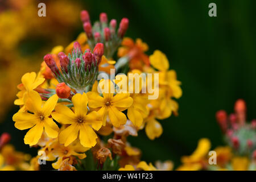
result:
[[[129,93],[118,93],[112,99],[115,107],[130,107],[133,104],[133,98],[129,97]]]

